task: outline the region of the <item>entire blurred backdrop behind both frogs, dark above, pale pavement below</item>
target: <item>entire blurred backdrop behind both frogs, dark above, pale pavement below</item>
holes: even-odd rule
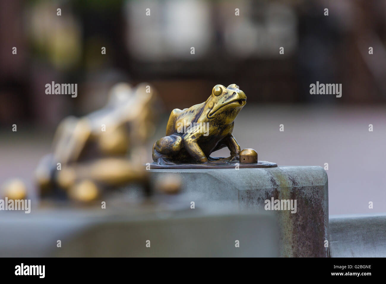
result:
[[[30,180],[58,122],[105,105],[114,83],[157,88],[157,137],[172,109],[236,83],[248,98],[242,148],[279,165],[328,163],[332,214],[367,213],[369,201],[384,212],[385,16],[383,0],[2,1],[0,181]],[[78,96],[47,95],[52,81],[77,83]],[[341,83],[342,97],[310,94],[317,81]]]

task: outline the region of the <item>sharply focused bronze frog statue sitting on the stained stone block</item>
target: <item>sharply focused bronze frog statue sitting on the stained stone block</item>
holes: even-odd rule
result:
[[[234,120],[246,104],[239,86],[215,85],[208,99],[188,109],[174,109],[166,126],[166,136],[153,145],[152,157],[158,165],[176,163],[224,163],[238,161],[240,146],[232,135]],[[214,151],[228,147],[228,158],[213,158]]]

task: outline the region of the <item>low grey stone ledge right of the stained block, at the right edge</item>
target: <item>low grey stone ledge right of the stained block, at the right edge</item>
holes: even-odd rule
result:
[[[331,257],[386,257],[386,214],[330,217]]]

